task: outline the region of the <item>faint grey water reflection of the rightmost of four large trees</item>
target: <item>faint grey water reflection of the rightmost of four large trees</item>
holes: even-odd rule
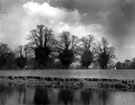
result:
[[[110,98],[109,91],[106,90],[98,91],[98,97],[99,97],[99,104],[107,105]]]

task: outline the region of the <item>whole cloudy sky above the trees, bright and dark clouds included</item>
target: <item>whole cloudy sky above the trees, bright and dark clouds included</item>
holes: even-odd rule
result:
[[[55,37],[62,31],[106,37],[117,61],[135,57],[134,0],[0,0],[0,42],[13,49],[26,44],[39,24],[52,28]]]

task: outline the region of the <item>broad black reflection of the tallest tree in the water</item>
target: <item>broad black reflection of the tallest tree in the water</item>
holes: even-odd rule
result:
[[[37,87],[34,95],[35,105],[48,105],[49,104],[48,92],[45,88]]]

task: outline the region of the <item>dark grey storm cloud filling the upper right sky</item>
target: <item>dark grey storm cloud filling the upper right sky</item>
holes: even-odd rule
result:
[[[108,35],[118,40],[129,36],[129,29],[135,18],[134,0],[56,0],[51,3],[87,13],[83,20],[85,24],[101,23]],[[101,18],[104,18],[104,21]]]

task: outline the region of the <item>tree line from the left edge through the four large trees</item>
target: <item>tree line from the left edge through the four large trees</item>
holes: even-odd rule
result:
[[[93,35],[78,38],[68,31],[60,33],[58,38],[55,36],[51,28],[37,25],[30,31],[26,45],[12,51],[1,43],[0,69],[108,69],[115,66],[115,48],[105,37],[96,41]]]

